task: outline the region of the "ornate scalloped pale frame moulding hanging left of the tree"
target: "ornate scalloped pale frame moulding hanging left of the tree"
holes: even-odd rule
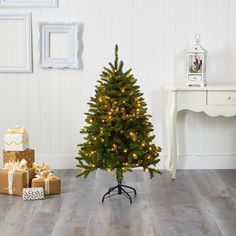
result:
[[[70,42],[68,58],[50,58],[50,33],[67,33]],[[39,64],[42,68],[79,68],[79,23],[39,22]]]

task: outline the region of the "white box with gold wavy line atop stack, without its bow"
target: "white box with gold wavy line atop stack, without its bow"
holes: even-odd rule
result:
[[[6,134],[4,136],[5,151],[24,151],[29,148],[29,135],[24,134]]]

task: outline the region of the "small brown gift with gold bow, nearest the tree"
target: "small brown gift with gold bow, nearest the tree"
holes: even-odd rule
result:
[[[45,195],[61,193],[61,180],[53,175],[51,171],[36,174],[36,178],[32,179],[31,186],[42,187]]]

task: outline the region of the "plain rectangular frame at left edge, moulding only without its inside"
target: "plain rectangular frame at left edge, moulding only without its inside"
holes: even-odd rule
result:
[[[22,67],[8,66],[3,67],[0,65],[0,72],[14,73],[14,72],[32,72],[32,17],[29,14],[0,14],[0,20],[23,20],[25,23],[25,55],[26,65]]]

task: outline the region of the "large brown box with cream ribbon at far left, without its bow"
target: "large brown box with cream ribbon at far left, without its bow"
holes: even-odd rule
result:
[[[23,188],[30,186],[34,175],[34,169],[11,171],[0,169],[0,193],[22,196]]]

